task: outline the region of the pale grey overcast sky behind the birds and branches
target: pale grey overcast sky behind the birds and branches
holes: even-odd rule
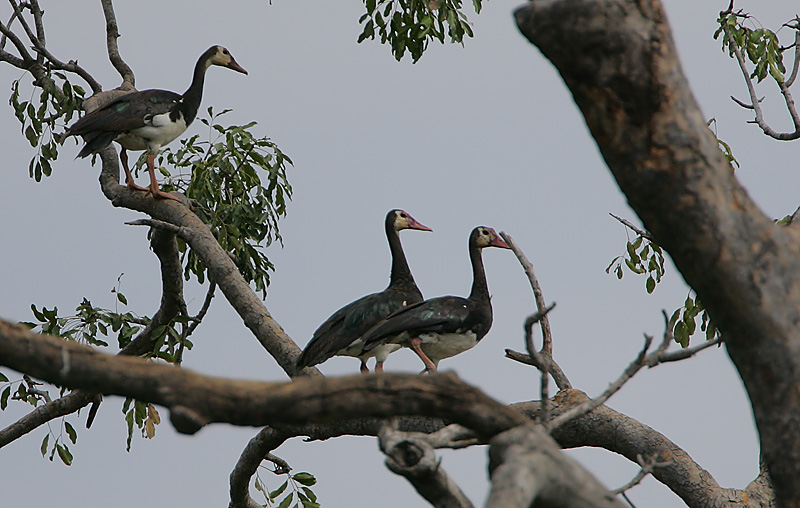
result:
[[[42,1],[48,47],[61,60],[78,59],[106,88],[119,77],[105,56],[102,12],[96,0]],[[798,205],[798,145],[770,141],[747,124],[741,75],[713,40],[717,2],[666,0],[674,37],[695,95],[707,118],[717,119],[742,167],[738,177],[771,217]],[[469,2],[467,2],[469,4]],[[249,76],[212,68],[201,111],[232,108],[231,123],[258,122],[295,162],[294,199],[281,221],[284,248],[268,255],[277,267],[266,305],[302,347],[333,311],[388,281],[389,252],[383,218],[404,208],[434,233],[402,233],[409,264],[426,297],[466,295],[471,284],[467,236],[488,225],[514,237],[534,263],[551,314],[555,358],[576,388],[600,393],[637,354],[643,334],[663,333],[661,310],[687,295],[672,265],[652,296],[644,279],[622,281],[604,269],[623,254],[625,228],[612,212],[634,222],[571,97],[552,66],[516,30],[519,0],[491,0],[471,15],[476,37],[465,47],[432,44],[421,61],[397,63],[377,42],[357,44],[363,4],[198,0],[117,2],[120,50],[139,89],[182,93],[197,57],[212,44],[230,49]],[[781,0],[737,2],[765,26],[794,12]],[[67,10],[67,9],[71,10]],[[10,7],[0,8],[7,20]],[[576,34],[576,36],[579,36]],[[29,76],[0,66],[0,81]],[[88,88],[88,87],[87,87]],[[768,120],[789,122],[774,88]],[[115,305],[110,290],[122,277],[130,310],[152,315],[158,305],[157,261],[146,230],[125,226],[140,217],[112,207],[101,194],[99,165],[73,160],[78,146],[62,149],[54,174],[28,178],[32,149],[10,108],[0,115],[4,184],[0,202],[2,260],[0,315],[31,320],[30,305],[68,313],[89,298]],[[205,134],[192,125],[186,136]],[[146,178],[140,177],[140,184]],[[484,253],[495,320],[473,350],[444,360],[466,382],[504,402],[538,398],[538,374],[506,360],[522,350],[522,323],[533,298],[508,251]],[[188,284],[196,312],[204,291]],[[128,309],[121,309],[128,310]],[[184,366],[204,374],[281,381],[286,377],[220,295],[193,337]],[[112,341],[113,343],[113,341]],[[389,358],[387,371],[415,372],[408,351]],[[10,378],[16,373],[2,369]],[[336,358],[327,375],[354,374],[358,362]],[[75,462],[65,467],[39,455],[46,428],[0,450],[0,486],[7,506],[226,506],[228,475],[257,429],[213,425],[195,436],[177,435],[165,418],[153,440],[134,438],[125,452],[122,400],[107,398],[91,429],[86,412],[78,429]],[[758,449],[750,406],[723,349],[640,373],[609,406],[662,432],[725,487],[742,488],[757,474]],[[5,427],[28,406],[0,413]],[[162,410],[162,417],[167,416]],[[58,432],[58,423],[51,427]],[[324,506],[421,506],[406,481],[383,466],[374,439],[325,443],[295,439],[278,449],[295,470],[314,473]],[[570,452],[608,487],[627,482],[637,467],[602,451]],[[443,465],[474,502],[487,489],[486,450],[443,452]],[[57,459],[56,459],[57,460]],[[275,488],[282,478],[262,470]],[[630,492],[637,506],[683,506],[652,479]]]

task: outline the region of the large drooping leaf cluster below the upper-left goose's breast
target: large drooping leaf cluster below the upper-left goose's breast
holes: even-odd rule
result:
[[[201,208],[200,216],[209,225],[223,249],[233,254],[245,280],[255,284],[266,297],[269,271],[273,269],[261,251],[275,240],[281,241],[278,219],[286,215],[292,187],[286,178],[291,159],[266,137],[256,137],[256,125],[222,126],[220,116],[208,108],[209,118],[200,121],[209,126],[209,139],[199,135],[181,141],[181,147],[169,148],[159,156],[179,172],[171,177],[173,188],[186,193]],[[141,165],[143,158],[140,159]],[[162,168],[162,173],[169,172]],[[205,280],[205,266],[200,258],[179,242],[183,253],[184,273]]]

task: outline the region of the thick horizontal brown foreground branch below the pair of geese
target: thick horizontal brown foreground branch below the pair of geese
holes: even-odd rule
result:
[[[0,364],[61,386],[164,406],[182,433],[214,422],[264,426],[332,417],[425,415],[453,418],[488,437],[525,422],[516,411],[449,374],[425,379],[386,374],[291,383],[232,381],[141,358],[101,354],[4,321]]]

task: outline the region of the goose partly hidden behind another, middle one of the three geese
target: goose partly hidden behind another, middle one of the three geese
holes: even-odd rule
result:
[[[392,273],[389,286],[380,293],[373,293],[349,303],[334,312],[314,332],[303,354],[297,360],[297,368],[311,367],[332,356],[354,356],[361,360],[361,372],[369,372],[367,360],[375,357],[375,372],[383,372],[386,357],[400,349],[396,344],[385,344],[363,352],[359,337],[380,320],[397,309],[422,301],[422,293],[411,270],[408,268],[400,235],[403,229],[431,231],[403,210],[390,210],[386,214],[386,238],[392,254]]]

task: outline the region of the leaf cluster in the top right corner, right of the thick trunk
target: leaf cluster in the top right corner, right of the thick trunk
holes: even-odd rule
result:
[[[786,67],[783,65],[783,52],[789,48],[781,47],[778,36],[772,30],[763,27],[749,28],[744,26],[744,21],[753,19],[744,12],[723,12],[717,19],[719,28],[714,32],[714,38],[722,37],[722,49],[728,50],[728,54],[734,56],[734,47],[731,41],[742,51],[742,54],[755,64],[751,78],[756,78],[758,82],[764,80],[767,75],[771,76],[778,83],[783,83]],[[791,25],[784,25],[794,28]]]

